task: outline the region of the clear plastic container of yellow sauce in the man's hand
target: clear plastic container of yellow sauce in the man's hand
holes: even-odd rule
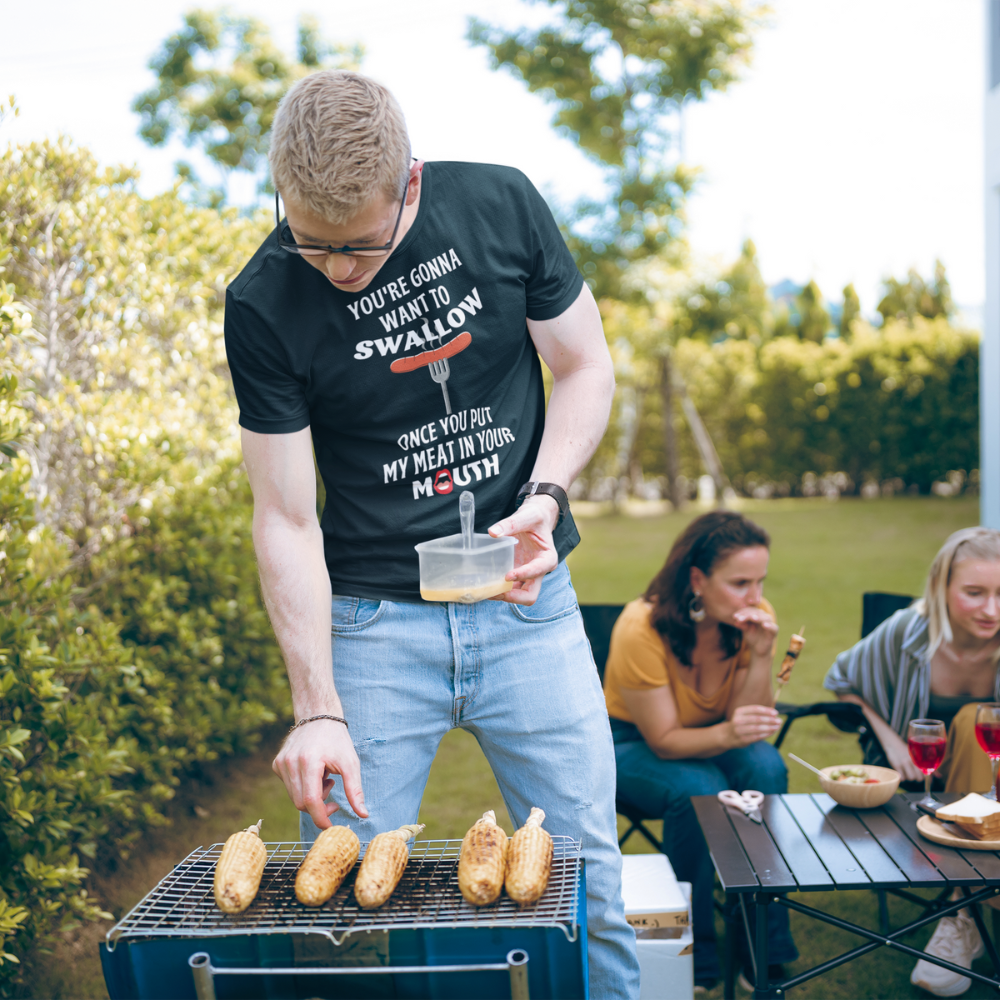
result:
[[[504,579],[514,568],[515,540],[473,535],[470,548],[462,535],[446,535],[415,545],[420,556],[420,596],[425,601],[475,604],[505,594],[514,584]]]

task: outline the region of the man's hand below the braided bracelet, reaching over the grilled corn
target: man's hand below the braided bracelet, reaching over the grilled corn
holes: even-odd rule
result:
[[[285,783],[295,808],[309,813],[321,830],[333,825],[330,816],[339,808],[335,802],[326,801],[335,774],[343,779],[354,812],[362,819],[368,817],[361,790],[361,764],[342,723],[317,719],[292,730],[271,768]]]

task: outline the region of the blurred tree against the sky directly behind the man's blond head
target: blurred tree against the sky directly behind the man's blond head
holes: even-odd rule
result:
[[[224,179],[243,170],[263,185],[267,135],[289,87],[317,69],[356,69],[362,54],[359,45],[323,41],[313,18],[299,19],[292,60],[254,18],[225,10],[191,11],[184,27],[150,60],[157,83],[132,105],[142,116],[139,134],[151,146],[162,146],[180,133],[187,145],[204,150]],[[193,169],[187,164],[180,169],[197,187]]]

